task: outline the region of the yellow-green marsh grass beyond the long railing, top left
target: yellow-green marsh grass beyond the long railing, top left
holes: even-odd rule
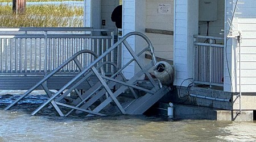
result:
[[[0,27],[82,27],[82,15],[82,7],[31,5],[16,16],[12,6],[0,5]]]

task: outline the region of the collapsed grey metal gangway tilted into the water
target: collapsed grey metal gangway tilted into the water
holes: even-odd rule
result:
[[[148,45],[139,53],[135,53],[129,43],[126,41],[127,37],[134,35],[141,36]],[[113,62],[104,62],[103,59],[121,44],[124,45],[123,47],[129,51],[133,58],[120,68],[118,68]],[[150,51],[152,55],[152,61],[150,61],[147,65],[145,65],[141,59],[139,59],[139,56],[145,51]],[[89,53],[90,55],[94,56],[94,61],[87,66],[82,66],[80,61],[77,59],[78,56],[81,56],[84,53]],[[79,74],[61,87],[61,89],[57,90],[57,92],[49,90],[47,87],[47,80],[55,76],[60,69],[64,68],[64,66],[68,65],[70,62],[75,62],[80,70]],[[122,72],[125,68],[127,68],[127,66],[134,64],[134,62],[141,70],[135,73],[135,75],[129,80],[126,80]],[[104,74],[102,66],[106,64],[112,65],[115,68],[111,76],[106,76]],[[77,52],[67,61],[63,62],[63,64],[61,64],[58,68],[44,77],[41,81],[36,83],[35,86],[27,90],[26,93],[21,95],[18,99],[16,99],[16,101],[7,106],[5,110],[9,110],[32,91],[42,86],[49,99],[36,108],[36,110],[32,112],[32,115],[35,115],[42,110],[42,108],[48,106],[48,108],[55,108],[60,116],[68,116],[74,111],[86,112],[88,114],[87,116],[104,116],[106,114],[102,113],[101,111],[111,102],[114,102],[122,114],[143,114],[143,112],[162,98],[164,94],[170,91],[167,86],[162,86],[158,80],[152,78],[151,74],[148,72],[148,70],[153,68],[155,65],[156,60],[154,48],[152,47],[150,40],[139,32],[130,32],[129,34],[123,36],[122,39],[110,47],[106,52],[102,53],[101,56],[98,56],[96,53],[89,50]],[[150,87],[144,87],[138,84],[138,80],[142,76],[146,76],[148,78]],[[89,89],[79,91],[77,86],[83,83],[87,83],[89,85]],[[122,94],[127,91],[130,92],[132,99],[123,101],[123,99],[119,97],[121,97]],[[71,102],[65,101],[72,92],[76,92],[78,97],[72,99]],[[64,108],[65,111],[63,111]],[[66,111],[67,109],[68,111]]]

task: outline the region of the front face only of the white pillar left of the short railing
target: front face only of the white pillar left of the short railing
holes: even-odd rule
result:
[[[187,78],[188,70],[188,0],[175,0],[174,6],[174,85],[180,85]]]

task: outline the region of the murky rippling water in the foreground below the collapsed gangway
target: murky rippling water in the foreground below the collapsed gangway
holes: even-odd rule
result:
[[[31,116],[46,100],[44,95],[30,95],[20,105],[3,111],[18,97],[6,93],[0,95],[0,141],[256,141],[253,122],[168,121],[165,116],[144,115],[61,118],[48,108]]]

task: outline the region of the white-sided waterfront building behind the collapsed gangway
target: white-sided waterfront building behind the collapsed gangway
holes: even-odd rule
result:
[[[91,19],[85,26],[114,28],[110,15],[119,1],[86,0],[85,5],[88,6],[85,19]],[[247,112],[252,113],[256,110],[256,1],[123,0],[122,5],[123,35],[142,32],[150,37],[156,56],[174,60],[174,85],[186,89],[193,83],[213,90],[196,94],[199,91],[195,90],[201,88],[195,87],[195,95],[206,95],[215,100],[202,103],[204,99],[197,98],[194,105],[232,112],[250,110]],[[101,25],[102,20],[106,20],[106,26]],[[174,36],[146,33],[149,28],[158,33],[174,31]],[[135,51],[144,45],[137,37],[131,37],[129,43]],[[122,52],[123,63],[130,58],[126,52]],[[135,65],[130,66],[125,70],[126,77],[136,70]],[[218,91],[214,92],[216,88]],[[228,100],[230,97],[233,98],[231,102],[216,101],[216,98]]]

